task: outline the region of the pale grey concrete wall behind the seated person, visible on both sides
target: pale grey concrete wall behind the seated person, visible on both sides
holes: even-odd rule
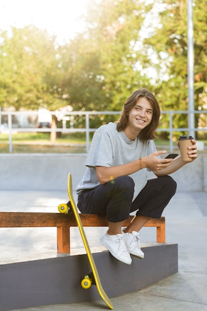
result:
[[[85,154],[1,154],[0,190],[64,190],[68,173],[73,189],[85,172]],[[151,177],[149,173],[149,177]],[[153,175],[154,176],[154,175]],[[207,155],[172,174],[178,191],[207,191]]]

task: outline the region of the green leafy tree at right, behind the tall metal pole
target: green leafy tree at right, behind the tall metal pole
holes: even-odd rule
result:
[[[207,0],[194,1],[194,49],[195,49],[195,109],[204,108],[207,92]],[[155,66],[157,78],[155,92],[162,110],[188,109],[188,38],[187,1],[155,0],[160,7],[157,24],[148,38],[144,40],[147,49],[153,51],[154,59],[149,66]],[[164,68],[163,75],[162,70]],[[163,117],[163,124],[168,122]],[[161,122],[161,124],[162,124]],[[198,118],[196,118],[196,126]],[[188,127],[187,115],[175,115],[174,126]]]

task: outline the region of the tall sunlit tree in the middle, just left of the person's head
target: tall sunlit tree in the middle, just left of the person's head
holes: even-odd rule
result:
[[[120,110],[133,90],[149,85],[138,68],[139,31],[148,9],[138,1],[89,1],[85,31],[69,44],[65,82],[74,110]]]

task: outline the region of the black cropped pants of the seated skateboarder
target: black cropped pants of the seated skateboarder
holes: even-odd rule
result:
[[[106,216],[112,223],[128,219],[131,212],[136,215],[160,218],[177,184],[170,176],[148,179],[137,198],[134,196],[134,181],[130,176],[121,176],[78,195],[77,207],[82,214]]]

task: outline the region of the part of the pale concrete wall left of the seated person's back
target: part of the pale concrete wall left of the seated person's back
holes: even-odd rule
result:
[[[85,171],[86,155],[0,155],[0,190],[67,190],[68,173],[73,189]]]

